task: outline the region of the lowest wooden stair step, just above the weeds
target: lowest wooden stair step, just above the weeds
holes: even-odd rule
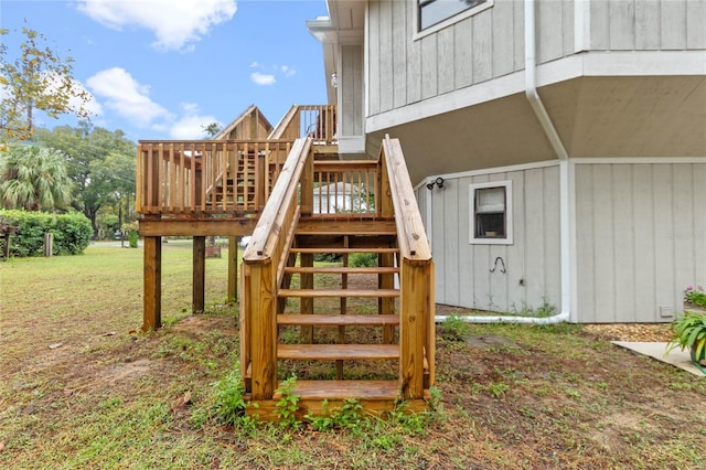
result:
[[[399,397],[398,381],[297,381],[292,392],[300,399],[391,399]],[[274,399],[279,399],[275,393]]]

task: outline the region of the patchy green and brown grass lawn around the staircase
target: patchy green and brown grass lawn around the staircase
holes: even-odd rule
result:
[[[228,427],[214,383],[237,361],[227,258],[163,247],[164,328],[142,334],[142,250],[0,263],[0,468],[698,469],[706,377],[580,325],[439,329],[441,409],[345,429]]]

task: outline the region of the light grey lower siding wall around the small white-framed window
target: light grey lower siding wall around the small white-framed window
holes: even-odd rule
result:
[[[559,309],[558,167],[448,178],[431,191],[422,211],[436,263],[436,300],[458,307],[498,312],[536,309],[544,302]],[[472,183],[512,181],[513,245],[471,245]],[[426,200],[418,190],[418,199]],[[420,205],[425,205],[422,203]],[[427,215],[427,211],[431,211]],[[491,273],[500,257],[506,273]],[[521,284],[522,281],[522,284]]]

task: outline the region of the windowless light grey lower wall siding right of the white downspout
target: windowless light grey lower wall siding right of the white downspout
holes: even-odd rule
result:
[[[706,284],[706,163],[576,165],[580,322],[663,322]]]

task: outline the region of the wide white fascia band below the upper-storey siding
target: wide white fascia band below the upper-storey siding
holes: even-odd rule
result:
[[[706,51],[582,52],[537,66],[537,86],[581,76],[706,75]],[[365,120],[375,132],[525,92],[524,70],[392,109]]]

